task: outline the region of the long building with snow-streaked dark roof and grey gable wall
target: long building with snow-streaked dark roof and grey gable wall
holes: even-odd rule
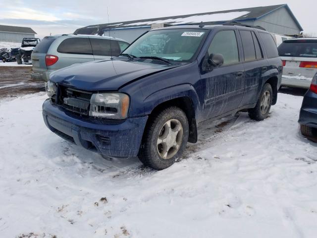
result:
[[[138,36],[150,30],[153,23],[166,23],[170,25],[196,24],[200,22],[204,22],[205,24],[221,24],[226,21],[258,25],[271,33],[282,35],[295,35],[303,31],[289,6],[281,4],[90,25],[77,29],[74,34],[104,34],[132,42]]]

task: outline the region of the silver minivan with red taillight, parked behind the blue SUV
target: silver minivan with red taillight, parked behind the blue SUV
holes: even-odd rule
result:
[[[32,54],[32,78],[48,81],[53,71],[75,63],[108,60],[118,56],[129,43],[93,35],[47,36]]]

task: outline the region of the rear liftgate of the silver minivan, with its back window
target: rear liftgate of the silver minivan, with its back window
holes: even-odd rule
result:
[[[43,73],[46,71],[45,56],[55,40],[56,37],[44,37],[44,39],[34,48],[31,55],[33,72]]]

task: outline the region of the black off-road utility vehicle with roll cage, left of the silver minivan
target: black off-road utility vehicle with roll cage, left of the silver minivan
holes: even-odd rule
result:
[[[12,48],[11,52],[16,58],[18,64],[22,64],[22,59],[24,63],[29,64],[31,60],[31,54],[34,47],[40,43],[39,38],[23,38],[20,48]]]

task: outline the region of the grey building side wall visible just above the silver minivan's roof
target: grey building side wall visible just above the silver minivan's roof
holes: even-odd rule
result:
[[[118,29],[111,29],[110,31],[104,31],[104,36],[110,36],[115,38],[120,38],[125,40],[129,43],[133,42],[136,38],[141,36],[146,31],[151,30],[151,27],[141,27],[141,28],[118,28]]]

